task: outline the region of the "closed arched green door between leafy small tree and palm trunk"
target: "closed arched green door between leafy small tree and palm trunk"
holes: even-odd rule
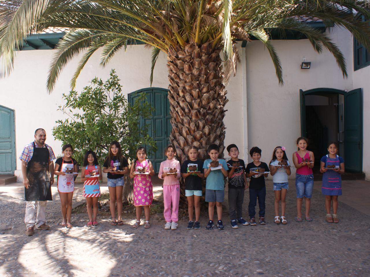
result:
[[[152,136],[157,145],[157,151],[148,157],[154,166],[155,172],[159,171],[161,162],[166,159],[164,148],[169,144],[169,134],[172,131],[169,114],[168,90],[162,88],[140,89],[129,93],[128,100],[131,104],[135,102],[139,93],[145,92],[147,101],[154,107],[154,112],[150,118],[141,119],[141,124],[148,124],[149,136]]]

